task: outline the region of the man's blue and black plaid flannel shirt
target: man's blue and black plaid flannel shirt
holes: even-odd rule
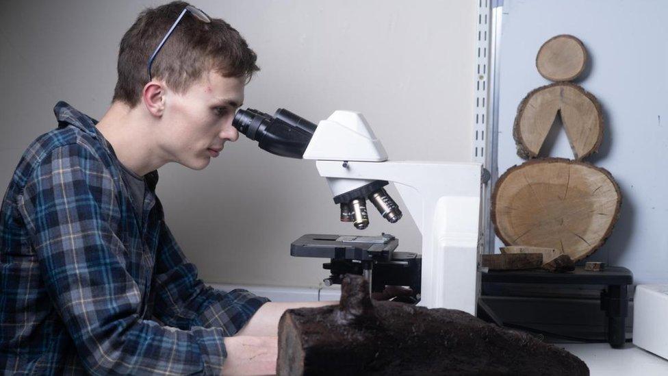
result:
[[[0,370],[220,374],[223,338],[268,299],[205,286],[164,222],[157,172],[137,218],[96,121],[54,112],[0,209]]]

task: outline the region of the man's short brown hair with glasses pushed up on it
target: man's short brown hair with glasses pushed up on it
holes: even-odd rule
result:
[[[146,71],[151,53],[159,45],[179,14],[188,6],[173,1],[144,10],[120,41],[118,82],[113,101],[135,107],[149,82]],[[185,92],[211,70],[224,77],[251,79],[259,71],[257,55],[233,27],[220,18],[199,21],[186,12],[153,61],[151,75],[164,79],[172,90]]]

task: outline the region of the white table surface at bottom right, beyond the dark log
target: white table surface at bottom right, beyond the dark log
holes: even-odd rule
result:
[[[633,344],[624,349],[613,349],[607,343],[555,344],[582,359],[591,376],[598,375],[668,375],[668,360],[647,352]]]

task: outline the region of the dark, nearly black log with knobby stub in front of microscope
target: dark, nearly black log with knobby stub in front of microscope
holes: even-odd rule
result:
[[[278,375],[589,375],[582,360],[461,312],[371,301],[347,275],[339,305],[287,310]]]

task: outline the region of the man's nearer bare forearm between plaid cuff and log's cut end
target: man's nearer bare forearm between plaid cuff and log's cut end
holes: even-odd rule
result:
[[[275,375],[279,356],[277,337],[225,337],[227,360],[222,375]]]

